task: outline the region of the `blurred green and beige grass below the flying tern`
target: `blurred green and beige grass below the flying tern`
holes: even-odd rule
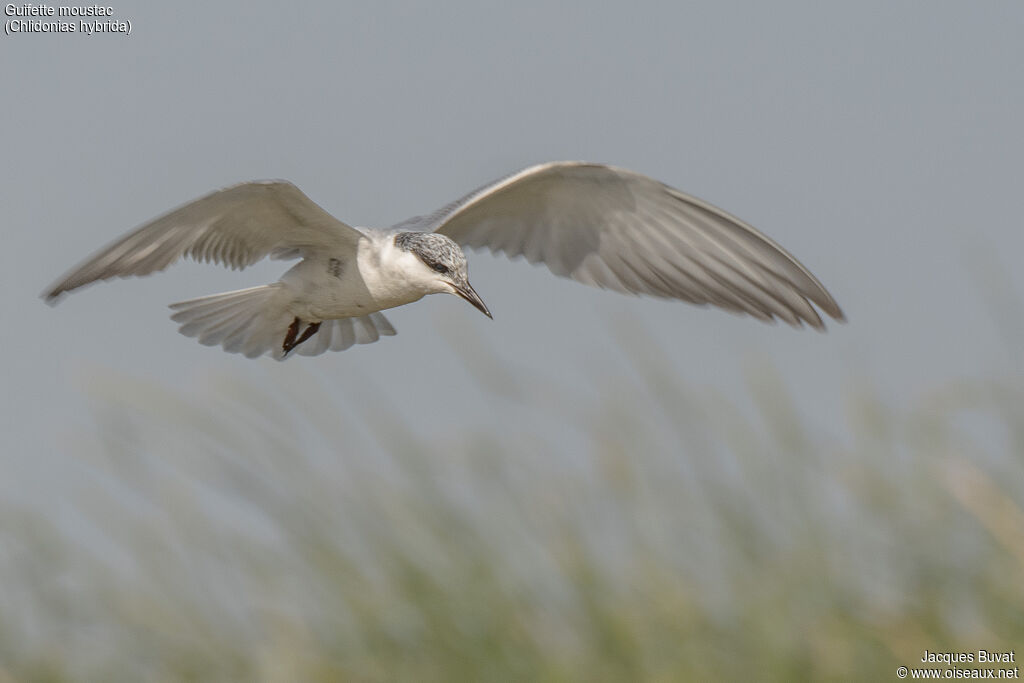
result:
[[[529,421],[418,438],[308,364],[97,378],[77,526],[0,510],[0,682],[892,680],[1024,643],[1017,379],[854,391],[837,439],[769,370],[749,416],[627,352],[588,396],[470,349],[571,454]]]

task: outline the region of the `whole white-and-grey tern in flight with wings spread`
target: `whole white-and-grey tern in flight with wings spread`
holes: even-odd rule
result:
[[[455,294],[490,312],[470,286],[461,247],[525,256],[556,275],[629,294],[714,304],[762,321],[823,330],[813,304],[843,311],[784,249],[743,221],[646,176],[551,162],[483,185],[387,229],[353,228],[285,180],[216,190],[129,232],[43,296],[145,275],[183,256],[232,269],[301,259],[270,285],[171,304],[203,344],[283,359],[393,335],[380,311]]]

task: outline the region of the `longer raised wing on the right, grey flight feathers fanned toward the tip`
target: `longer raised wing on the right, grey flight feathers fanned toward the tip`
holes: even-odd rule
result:
[[[751,225],[601,164],[532,166],[398,227],[525,256],[594,287],[711,303],[796,327],[824,328],[811,302],[845,319],[821,283]]]

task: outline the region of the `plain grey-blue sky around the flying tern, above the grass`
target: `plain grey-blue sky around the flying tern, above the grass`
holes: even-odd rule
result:
[[[901,402],[1019,361],[979,285],[1000,264],[1024,292],[1019,2],[115,11],[130,36],[0,36],[0,490],[57,490],[90,428],[86,385],[105,370],[198,402],[217,373],[272,383],[298,367],[339,392],[373,382],[428,438],[485,430],[503,410],[462,370],[463,330],[509,368],[587,391],[629,372],[610,332],[635,318],[683,377],[740,402],[744,364],[770,361],[837,434],[859,382]],[[807,264],[850,323],[797,332],[471,254],[494,322],[431,297],[389,314],[395,338],[270,368],[181,337],[166,304],[268,282],[281,263],[181,264],[52,309],[38,298],[96,248],[220,185],[288,178],[349,223],[387,225],[556,159],[625,166],[742,217]],[[557,415],[524,428],[557,430]]]

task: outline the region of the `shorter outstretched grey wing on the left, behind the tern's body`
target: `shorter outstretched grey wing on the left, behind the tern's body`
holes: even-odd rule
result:
[[[285,180],[218,189],[124,236],[75,267],[43,296],[163,270],[183,256],[244,268],[266,256],[297,258],[319,249],[354,250],[361,232]]]

